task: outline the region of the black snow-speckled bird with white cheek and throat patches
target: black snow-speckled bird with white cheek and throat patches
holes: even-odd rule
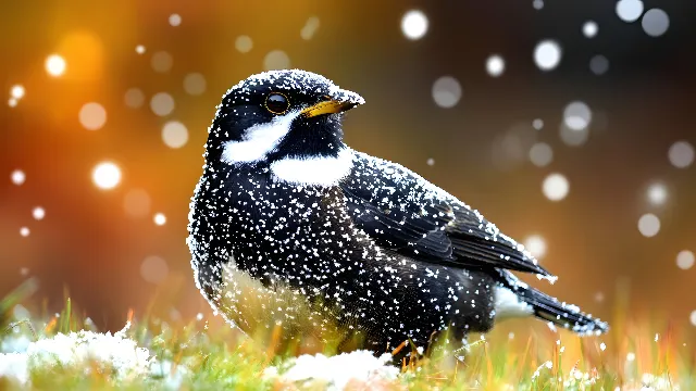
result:
[[[277,346],[375,354],[406,343],[421,353],[442,336],[465,345],[514,317],[608,331],[520,279],[557,277],[477,210],[348,147],[346,113],[363,103],[301,70],[256,74],[225,92],[186,240],[216,314]]]

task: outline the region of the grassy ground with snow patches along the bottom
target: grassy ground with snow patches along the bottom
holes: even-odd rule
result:
[[[369,352],[269,355],[229,327],[197,316],[171,325],[137,314],[115,333],[78,317],[27,314],[25,286],[0,300],[0,390],[693,390],[696,355],[673,328],[619,319],[579,338],[542,325],[473,336],[467,360],[389,364]]]

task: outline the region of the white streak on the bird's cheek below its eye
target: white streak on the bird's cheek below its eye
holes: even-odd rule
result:
[[[290,131],[293,121],[300,114],[293,111],[273,121],[247,129],[244,140],[223,144],[222,162],[227,164],[253,163],[263,160]]]

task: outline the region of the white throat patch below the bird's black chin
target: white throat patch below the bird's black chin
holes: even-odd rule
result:
[[[330,187],[338,184],[352,169],[352,150],[344,148],[336,157],[287,157],[271,163],[277,181]]]

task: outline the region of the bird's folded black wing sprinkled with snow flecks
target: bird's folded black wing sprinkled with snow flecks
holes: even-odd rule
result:
[[[399,254],[551,276],[477,211],[399,164],[353,152],[353,169],[339,186],[356,226]]]

